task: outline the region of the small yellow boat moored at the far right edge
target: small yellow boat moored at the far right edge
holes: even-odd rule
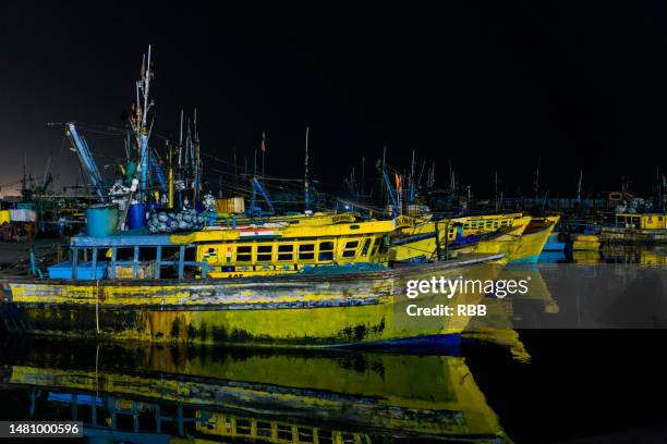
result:
[[[601,229],[602,243],[667,243],[667,214],[617,213],[615,222]]]

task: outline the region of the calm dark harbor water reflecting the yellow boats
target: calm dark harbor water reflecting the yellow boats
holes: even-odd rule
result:
[[[511,322],[525,318],[525,305],[572,311],[550,289],[555,263],[667,273],[666,258],[659,248],[544,257],[536,297],[499,304],[495,319],[509,323],[471,329],[446,353],[2,337],[0,417],[80,420],[90,442],[662,442],[667,418],[653,405],[667,397],[667,330],[517,331]],[[634,296],[641,304],[644,295]]]

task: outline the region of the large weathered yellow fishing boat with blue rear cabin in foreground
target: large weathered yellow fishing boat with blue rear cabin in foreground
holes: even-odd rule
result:
[[[51,266],[45,279],[0,280],[0,317],[12,332],[153,342],[393,346],[456,338],[468,316],[403,322],[407,282],[475,271],[493,279],[474,266],[501,255],[388,268],[391,234],[403,221],[74,236],[72,260]],[[461,294],[457,303],[483,296]]]

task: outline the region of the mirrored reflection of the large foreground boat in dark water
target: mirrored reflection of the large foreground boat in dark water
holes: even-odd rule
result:
[[[457,356],[22,341],[1,361],[0,396],[25,406],[10,416],[77,419],[90,437],[510,442]]]

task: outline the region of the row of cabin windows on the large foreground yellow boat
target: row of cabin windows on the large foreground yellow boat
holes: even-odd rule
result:
[[[365,257],[371,250],[372,239],[364,239],[361,256]],[[359,250],[359,240],[349,240],[345,243],[342,251],[343,258],[354,258]],[[253,247],[256,247],[257,262],[272,262],[274,244],[270,245],[240,245],[237,247],[237,262],[251,262],[253,260]],[[374,250],[377,251],[377,248]],[[209,254],[215,254],[214,248],[209,248]],[[315,260],[315,244],[279,244],[277,248],[277,260],[279,262],[293,262],[294,254],[296,252],[298,260]],[[333,242],[324,240],[319,243],[317,250],[317,261],[333,260]]]

